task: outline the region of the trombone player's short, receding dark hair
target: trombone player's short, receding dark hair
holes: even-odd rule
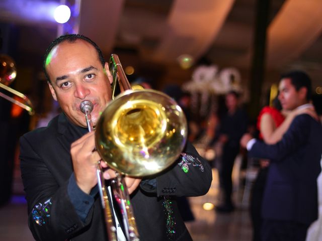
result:
[[[78,39],[85,40],[86,42],[88,42],[91,45],[93,45],[93,47],[97,51],[98,57],[100,59],[100,62],[103,65],[103,68],[104,68],[104,66],[105,66],[105,59],[104,59],[103,53],[102,53],[101,49],[97,46],[97,44],[94,41],[92,41],[90,38],[88,38],[88,37],[86,37],[84,35],[80,35],[80,34],[66,34],[66,35],[62,35],[62,36],[58,37],[57,39],[55,39],[54,41],[52,41],[50,43],[50,45],[48,46],[48,48],[46,49],[46,53],[45,53],[45,56],[44,56],[44,62],[43,62],[43,69],[44,69],[44,72],[45,72],[45,75],[46,75],[46,78],[47,78],[48,83],[50,83],[50,79],[49,79],[49,76],[48,76],[48,73],[47,73],[47,70],[46,70],[46,62],[47,62],[47,58],[48,58],[48,55],[49,55],[50,51],[55,46],[57,46],[58,44],[60,44],[62,42],[67,41],[68,43],[74,43]]]

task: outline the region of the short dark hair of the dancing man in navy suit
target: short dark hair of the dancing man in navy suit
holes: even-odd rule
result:
[[[307,73],[299,70],[290,71],[281,75],[281,79],[284,78],[291,79],[291,83],[295,87],[296,91],[298,91],[302,87],[305,87],[307,89],[306,100],[309,101],[311,99],[311,79]]]

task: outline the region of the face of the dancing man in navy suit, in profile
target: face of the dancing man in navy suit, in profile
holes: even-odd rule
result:
[[[290,78],[281,79],[278,88],[278,99],[283,109],[293,110],[305,103],[306,88],[302,87],[297,91]]]

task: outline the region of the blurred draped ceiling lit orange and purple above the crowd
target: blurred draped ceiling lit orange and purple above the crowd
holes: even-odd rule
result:
[[[41,52],[40,39],[48,42],[47,36],[52,36],[57,26],[48,20],[27,19],[21,15],[19,5],[10,7],[22,2],[48,4],[52,1],[4,0],[0,3],[0,22],[33,28],[38,35],[22,31],[28,38],[20,40],[20,47],[28,52]],[[128,55],[133,64],[143,62],[165,69],[179,68],[178,57],[189,54],[196,63],[206,58],[222,67],[249,71],[256,2],[82,0],[79,33],[97,42],[106,56],[119,51]],[[309,0],[304,4],[303,0],[271,0],[269,16],[267,69],[280,71],[296,66],[317,76],[322,67],[322,1]]]

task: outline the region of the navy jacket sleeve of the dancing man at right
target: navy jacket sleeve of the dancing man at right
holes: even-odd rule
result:
[[[275,145],[267,145],[257,140],[248,152],[249,157],[267,158],[273,162],[279,162],[296,152],[307,142],[310,131],[308,118],[311,117],[307,114],[296,116],[282,140]]]

